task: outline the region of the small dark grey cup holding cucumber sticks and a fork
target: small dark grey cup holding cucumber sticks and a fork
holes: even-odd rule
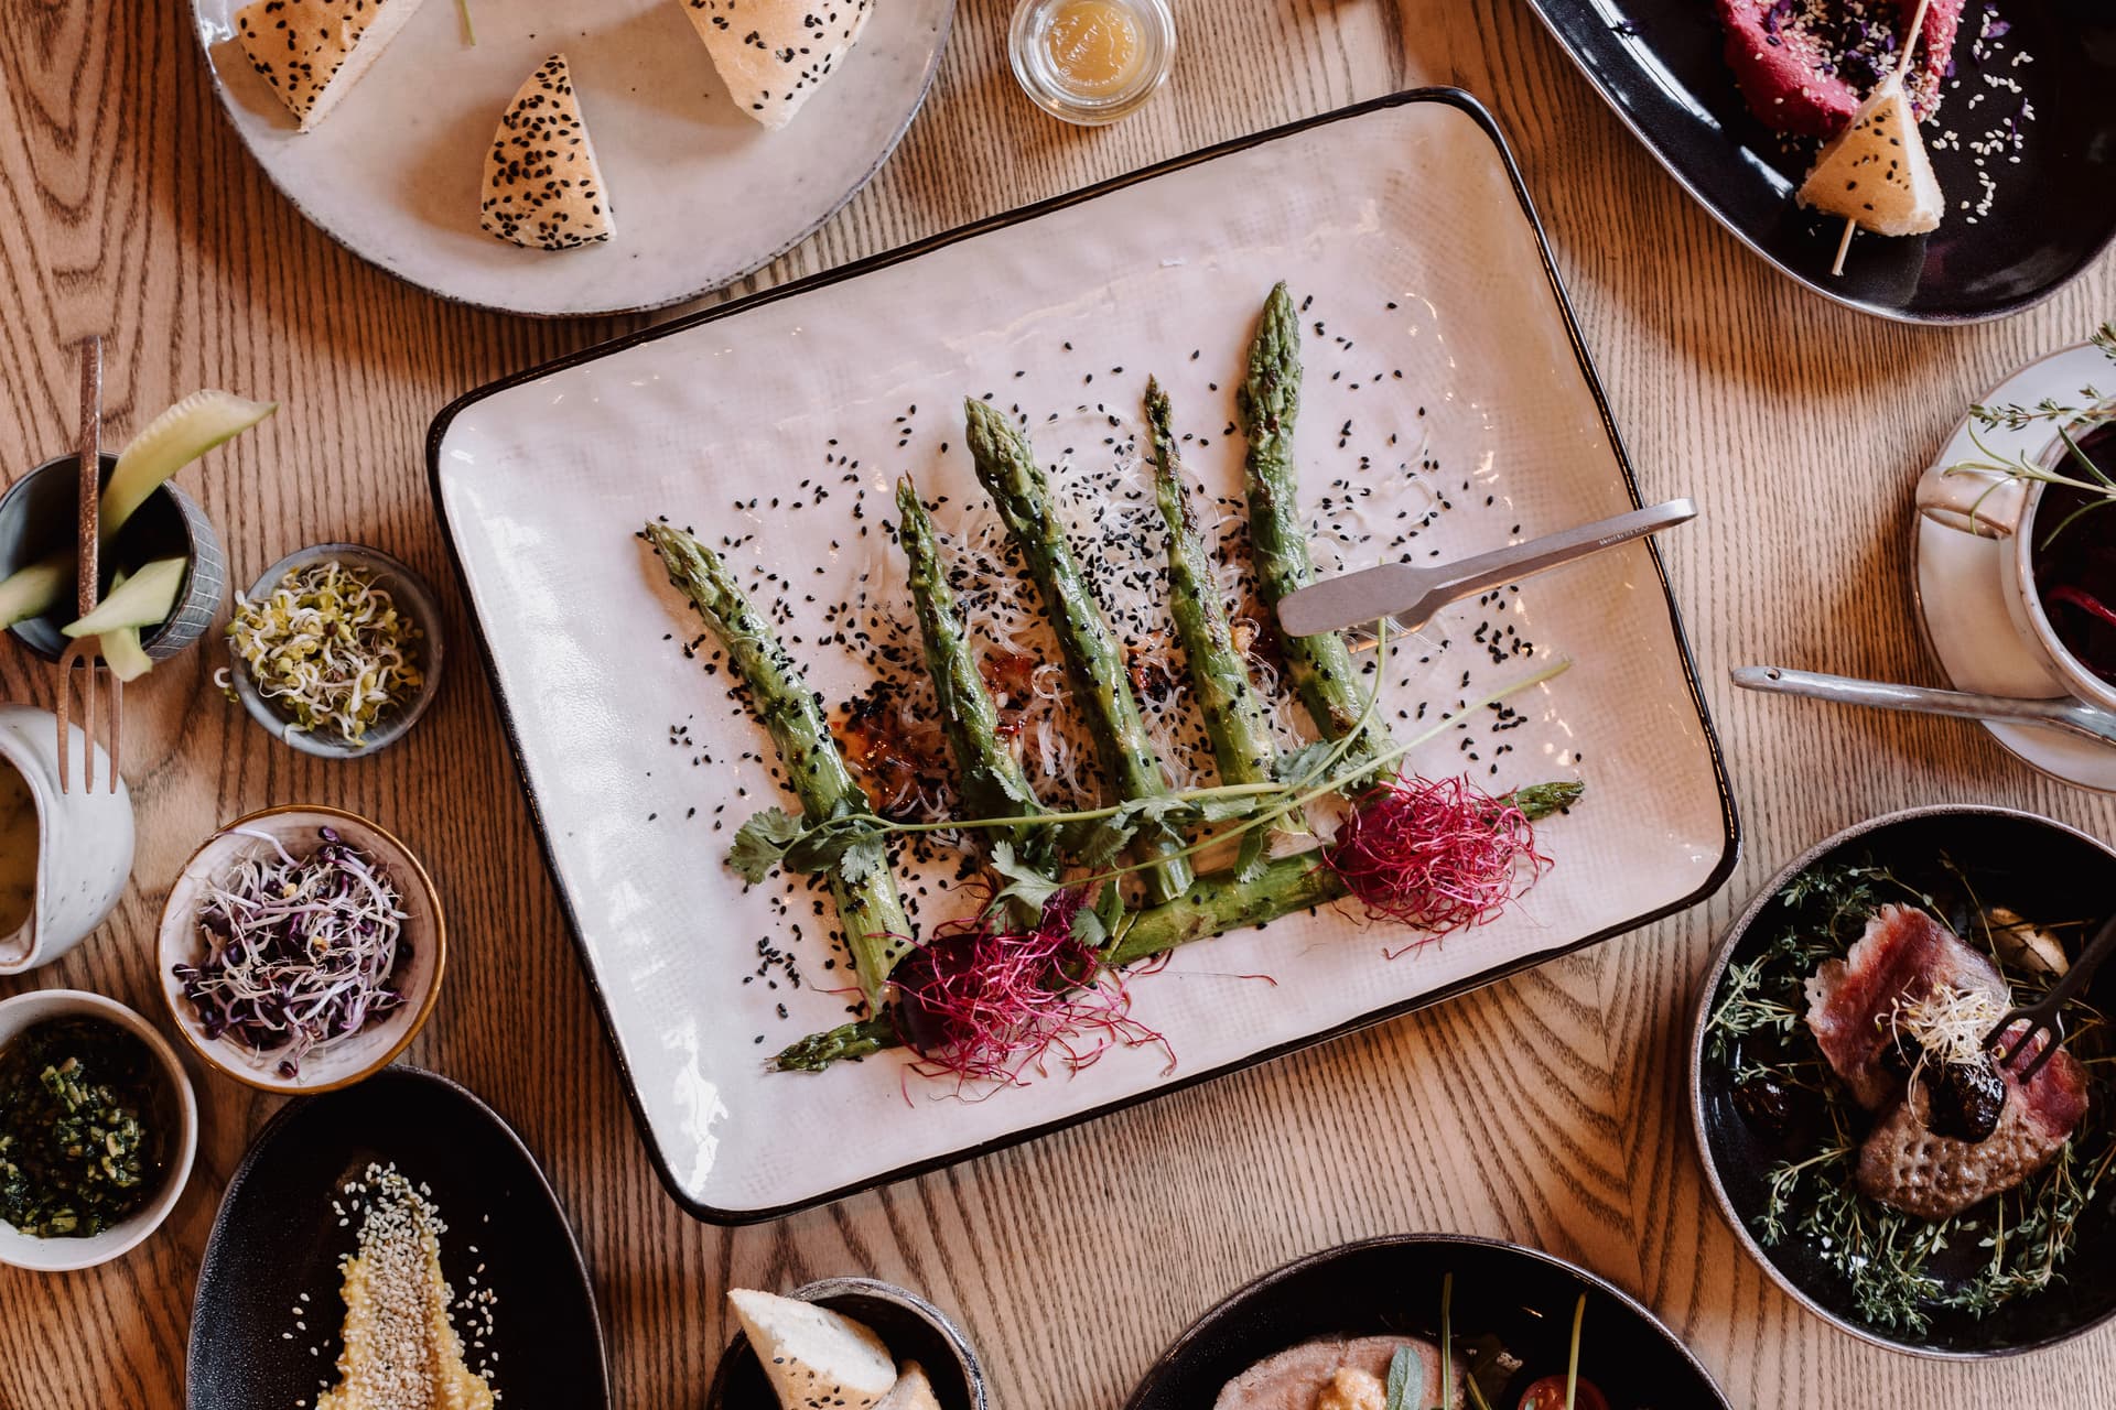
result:
[[[6,495],[0,495],[0,577],[74,541],[74,467],[78,463],[78,454],[57,454],[11,484]],[[118,457],[102,457],[106,484],[116,465]],[[190,564],[176,598],[176,611],[140,638],[148,660],[167,662],[205,634],[229,590],[229,558],[197,499],[174,484],[163,484],[148,495],[146,503],[118,531],[116,541],[104,550],[104,592],[110,590],[110,571],[118,556],[127,560],[182,556]],[[8,630],[30,651],[55,662],[72,645],[59,634],[59,628],[72,619],[74,590],[68,588],[59,611],[17,621]]]

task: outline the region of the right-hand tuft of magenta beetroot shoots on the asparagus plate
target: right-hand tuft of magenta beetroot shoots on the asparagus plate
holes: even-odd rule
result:
[[[1416,949],[1496,920],[1551,860],[1519,805],[1466,778],[1397,774],[1361,795],[1322,865],[1369,920],[1422,930]]]

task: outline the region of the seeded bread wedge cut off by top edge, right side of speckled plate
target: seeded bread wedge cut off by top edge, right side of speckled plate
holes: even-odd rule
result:
[[[785,127],[823,87],[874,0],[679,0],[734,104]]]

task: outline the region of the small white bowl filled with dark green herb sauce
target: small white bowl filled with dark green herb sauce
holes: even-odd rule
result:
[[[66,1123],[108,1158],[74,1165],[70,1142],[55,1139]],[[176,1209],[199,1101],[176,1049],[138,1013],[83,989],[34,989],[0,1000],[0,1264],[93,1268]]]

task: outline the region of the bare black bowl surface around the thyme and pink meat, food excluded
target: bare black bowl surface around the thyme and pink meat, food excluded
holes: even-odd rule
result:
[[[2063,822],[2008,808],[1913,808],[1868,818],[1801,852],[1733,922],[1697,989],[1691,1118],[1705,1186],[1741,1247],[1771,1281],[1807,1311],[1860,1340],[1919,1357],[1968,1361],[2084,1336],[2116,1317],[2116,1207],[2105,1190],[2099,1199],[2088,1196],[2076,1205],[2074,1239],[2061,1254],[2057,1279],[1983,1311],[1974,1306],[1974,1290],[1991,1251],[1981,1239],[1991,1232],[1998,1201],[2019,1209],[2021,1201],[2033,1199],[2033,1186],[2023,1184],[2019,1194],[2000,1194],[1970,1207],[1962,1218],[1974,1226],[1955,1226],[1947,1247],[1923,1260],[1921,1275],[1934,1281],[1932,1292],[1938,1296],[1913,1302],[1911,1319],[1894,1315],[1900,1306],[1890,1306],[1887,1300],[1864,1298],[1854,1279],[1832,1264],[1830,1249],[1849,1247],[1852,1241],[1832,1243],[1822,1232],[1826,1224],[1805,1224],[1809,1201],[1799,1192],[1835,1186],[1847,1190],[1849,1199],[1866,1201],[1860,1207],[1860,1228],[1881,1228],[1877,1220],[1885,1216],[1885,1207],[1862,1192],[1849,1194],[1845,1175],[1828,1177],[1832,1169],[1845,1167],[1822,1165],[1803,1173],[1801,1180],[1813,1184],[1794,1186],[1796,1201],[1782,1213],[1782,1228],[1769,1228],[1773,1175],[1818,1150],[1843,1144],[1856,1148],[1875,1118],[1858,1112],[1839,1137],[1822,1097],[1832,1076],[1805,1023],[1805,991],[1784,1004],[1788,1015],[1782,1036],[1758,1029],[1735,1042],[1714,1042],[1716,1034],[1725,1038],[1718,1015],[1739,998],[1737,985],[1746,994],[1765,994],[1748,989],[1744,972],[1780,972],[1788,979],[1790,972],[1811,972],[1801,964],[1777,970],[1758,966],[1777,966],[1773,947],[1792,934],[1811,932],[1818,907],[1826,911],[1839,905],[1832,896],[1841,892],[1828,890],[1830,877],[1849,875],[1847,867],[1864,869],[1875,898],[1923,909],[1972,945],[1987,943],[1991,934],[1976,917],[2002,907],[2046,926],[2053,939],[2061,939],[2067,956],[2078,956],[2078,947],[2116,909],[2116,850]],[[1841,913],[1843,932],[1860,934],[1866,911]],[[2014,962],[2000,968],[2012,987],[2012,1002],[2029,1002],[2031,989]],[[2095,975],[2084,1002],[2101,1010],[2116,1004],[2116,966]],[[2103,1046],[2099,1034],[2078,1023],[2074,1029],[2076,1055],[2091,1057]],[[1763,1072],[1788,1063],[1801,1080]],[[2099,1074],[2105,1068],[2088,1063],[2086,1072]],[[2110,1108],[2116,1108],[2116,1089],[2105,1076],[2088,1076],[2088,1112],[2072,1135],[2082,1169],[2080,1188],[2086,1188],[2101,1152],[2116,1152],[2116,1110]],[[1856,1125],[1860,1120],[1864,1125]],[[1826,1201],[1830,1209],[1845,1207],[1835,1196]],[[1896,1222],[1902,1239],[1919,1237],[1926,1228],[1917,1216]],[[2008,1239],[2019,1241],[2021,1232],[2008,1226]],[[2036,1249],[2023,1243],[2014,1247],[2023,1256]]]

